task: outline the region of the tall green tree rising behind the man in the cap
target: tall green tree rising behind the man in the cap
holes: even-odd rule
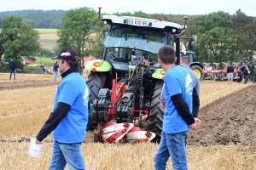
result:
[[[63,16],[63,25],[57,31],[60,39],[59,48],[74,48],[83,62],[84,56],[90,53],[90,33],[97,13],[92,8],[77,8],[67,11]],[[83,63],[82,63],[83,64]],[[83,67],[79,65],[82,74]]]

